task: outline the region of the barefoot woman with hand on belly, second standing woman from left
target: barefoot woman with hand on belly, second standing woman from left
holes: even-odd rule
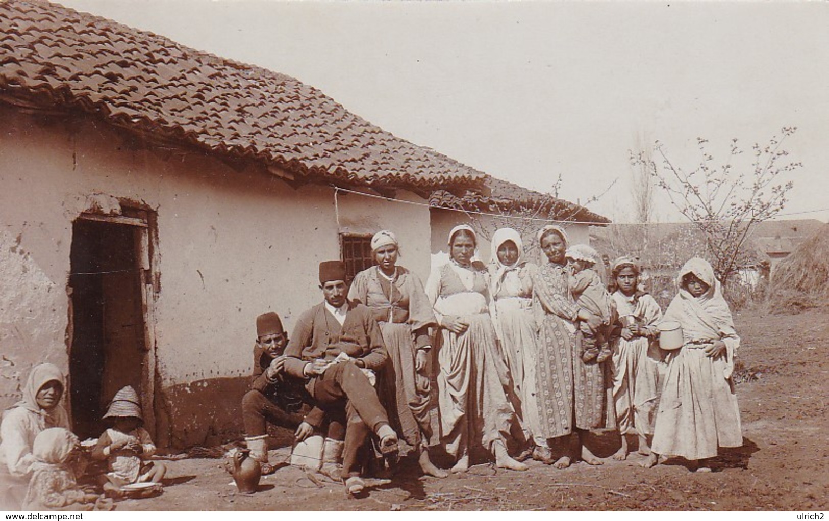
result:
[[[504,388],[507,364],[497,350],[488,309],[487,271],[473,264],[475,232],[466,224],[449,232],[449,263],[434,268],[426,282],[439,324],[440,439],[457,459],[453,472],[466,472],[469,451],[477,445],[495,456],[498,467],[526,470],[507,454],[506,440],[515,412]]]

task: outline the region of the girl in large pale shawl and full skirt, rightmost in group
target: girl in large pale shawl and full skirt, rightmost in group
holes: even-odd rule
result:
[[[664,320],[680,323],[685,344],[668,355],[651,456],[642,466],[656,465],[659,455],[681,456],[705,471],[700,461],[717,456],[719,447],[743,445],[731,380],[739,336],[707,261],[691,258],[676,282],[679,293]]]

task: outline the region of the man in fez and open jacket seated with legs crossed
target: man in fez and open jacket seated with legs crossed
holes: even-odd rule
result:
[[[285,350],[285,370],[306,380],[305,388],[323,409],[345,408],[346,441],[342,477],[349,494],[365,489],[358,450],[369,432],[380,440],[385,456],[397,453],[397,435],[363,369],[377,371],[388,359],[380,326],[371,310],[346,298],[346,268],[340,261],[319,265],[325,300],[305,311]]]

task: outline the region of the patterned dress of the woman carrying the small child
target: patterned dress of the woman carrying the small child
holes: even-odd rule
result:
[[[536,385],[542,436],[604,427],[604,368],[595,361],[585,364],[575,349],[579,307],[568,290],[565,266],[545,263],[538,269],[533,308],[539,324]]]

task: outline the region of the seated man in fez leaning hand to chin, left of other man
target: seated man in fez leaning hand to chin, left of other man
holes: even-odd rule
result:
[[[262,474],[274,472],[268,463],[268,422],[296,429],[294,437],[303,441],[325,419],[320,408],[313,408],[305,417],[299,412],[305,393],[301,381],[285,374],[283,352],[287,341],[279,315],[270,312],[256,317],[254,374],[250,390],[242,398],[242,420],[250,457],[259,461]]]

